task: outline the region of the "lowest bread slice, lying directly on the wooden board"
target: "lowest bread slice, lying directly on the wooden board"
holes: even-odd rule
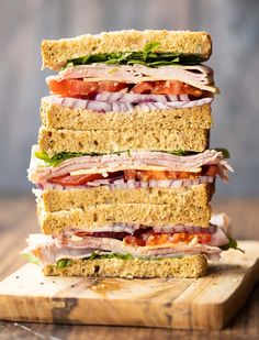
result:
[[[58,268],[45,265],[46,276],[105,276],[105,277],[200,277],[206,274],[207,261],[204,255],[192,255],[159,260],[95,259],[74,260],[71,264]]]

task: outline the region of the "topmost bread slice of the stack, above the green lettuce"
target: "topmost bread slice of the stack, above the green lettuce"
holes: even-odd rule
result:
[[[86,34],[75,39],[42,42],[43,68],[59,70],[68,59],[112,52],[140,52],[147,43],[159,42],[157,53],[195,54],[203,61],[212,53],[211,36],[206,32],[190,31],[117,31]]]

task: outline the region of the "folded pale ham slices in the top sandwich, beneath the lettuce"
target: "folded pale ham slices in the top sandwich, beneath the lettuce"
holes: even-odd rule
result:
[[[144,65],[81,65],[68,67],[60,72],[58,76],[47,77],[46,81],[48,84],[50,80],[61,81],[65,79],[81,78],[86,81],[112,80],[128,84],[156,80],[179,80],[213,94],[218,91],[214,86],[213,70],[205,65],[170,65],[160,66],[158,68]]]

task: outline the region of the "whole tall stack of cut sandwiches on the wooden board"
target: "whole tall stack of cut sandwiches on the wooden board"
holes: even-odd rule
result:
[[[198,277],[235,248],[210,201],[232,171],[210,149],[218,91],[205,32],[120,31],[43,41],[42,127],[29,178],[45,275]]]

